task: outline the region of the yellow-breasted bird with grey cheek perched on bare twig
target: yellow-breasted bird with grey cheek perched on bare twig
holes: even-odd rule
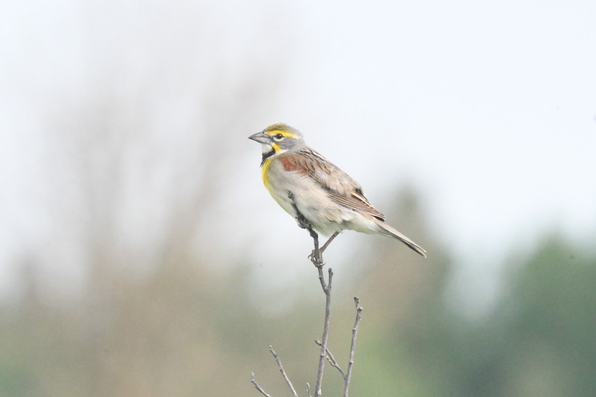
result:
[[[389,236],[426,258],[426,250],[385,222],[362,186],[306,145],[302,133],[284,123],[272,124],[249,136],[262,146],[263,184],[299,226],[331,236],[343,230]],[[302,223],[302,224],[301,224]]]

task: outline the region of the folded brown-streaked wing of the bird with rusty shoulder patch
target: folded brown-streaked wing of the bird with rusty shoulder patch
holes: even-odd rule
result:
[[[368,202],[362,187],[339,167],[322,157],[312,149],[303,149],[296,153],[283,154],[279,157],[287,171],[298,171],[311,177],[329,192],[333,201],[354,211],[373,215],[380,220],[386,216]]]

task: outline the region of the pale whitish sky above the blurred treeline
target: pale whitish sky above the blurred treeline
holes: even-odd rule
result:
[[[69,208],[55,202],[68,184],[67,174],[56,184],[48,173],[72,148],[63,145],[66,133],[57,139],[50,130],[57,120],[71,126],[72,115],[101,98],[147,102],[143,112],[106,126],[146,120],[147,129],[135,132],[145,145],[131,152],[165,159],[154,166],[154,185],[145,186],[154,193],[147,202],[129,198],[127,208],[137,212],[127,219],[134,224],[164,216],[159,197],[167,170],[193,164],[189,159],[199,156],[193,144],[216,142],[235,151],[238,167],[218,192],[228,198],[240,188],[250,211],[229,208],[226,200],[219,205],[234,219],[234,238],[250,242],[251,255],[263,263],[294,260],[299,244],[280,252],[269,249],[269,238],[246,239],[263,218],[280,233],[297,233],[293,221],[272,208],[260,185],[260,147],[246,140],[278,121],[300,129],[381,211],[390,212],[389,183],[418,192],[433,239],[449,246],[460,266],[461,289],[494,289],[491,280],[512,250],[554,230],[593,245],[593,1],[62,0],[4,2],[0,10],[4,280],[11,280],[27,250],[52,252],[41,255],[61,269],[58,279],[81,277],[76,233],[54,241],[64,227],[55,218]],[[196,107],[196,97],[209,89],[220,102]],[[227,104],[242,109],[243,101],[254,102],[250,112],[212,111]],[[207,118],[225,136],[210,140],[210,130],[185,129]],[[140,174],[133,170],[131,178]],[[218,223],[215,215],[207,219]],[[225,224],[214,233],[229,232]],[[152,227],[138,229],[157,233],[159,226]],[[138,229],[128,233],[138,236]],[[267,236],[270,229],[256,230]],[[241,259],[226,255],[231,263]],[[278,276],[284,283],[295,273]],[[8,282],[0,289],[10,289]]]

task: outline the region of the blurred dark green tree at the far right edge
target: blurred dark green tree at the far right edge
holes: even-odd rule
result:
[[[596,258],[554,235],[519,268],[496,312],[500,396],[593,396]]]

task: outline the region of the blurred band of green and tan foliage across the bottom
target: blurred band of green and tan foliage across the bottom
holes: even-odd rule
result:
[[[596,258],[545,239],[511,261],[495,308],[470,320],[445,302],[452,265],[440,248],[421,265],[387,241],[374,242],[355,285],[334,291],[330,349],[344,366],[349,294],[365,308],[350,395],[593,395]],[[224,275],[182,255],[137,279],[102,274],[76,302],[48,304],[42,285],[25,282],[22,299],[2,304],[0,395],[256,396],[252,371],[269,393],[287,395],[269,344],[299,393],[312,385],[322,292],[271,316],[254,300],[249,265]],[[341,389],[327,367],[324,395]]]

